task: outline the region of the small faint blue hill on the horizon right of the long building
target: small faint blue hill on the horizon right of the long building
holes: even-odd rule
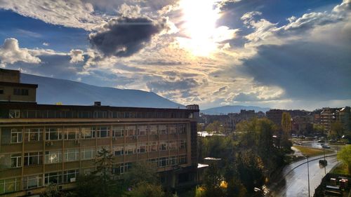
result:
[[[213,107],[209,109],[201,110],[201,113],[208,115],[219,115],[219,114],[228,114],[228,113],[239,113],[241,109],[246,110],[255,110],[258,111],[268,111],[270,108],[267,107],[256,107],[256,106],[243,106],[243,105],[226,105],[221,107]]]

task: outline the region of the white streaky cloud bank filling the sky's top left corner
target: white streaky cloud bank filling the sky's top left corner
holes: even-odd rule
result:
[[[91,30],[105,21],[101,15],[95,15],[92,4],[80,0],[0,1],[0,8],[53,25],[86,30]]]

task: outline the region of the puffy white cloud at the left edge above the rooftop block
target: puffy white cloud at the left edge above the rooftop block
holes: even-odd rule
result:
[[[38,64],[41,60],[32,55],[27,48],[20,48],[17,39],[5,39],[4,44],[0,46],[0,64],[4,67],[5,64],[15,62]]]

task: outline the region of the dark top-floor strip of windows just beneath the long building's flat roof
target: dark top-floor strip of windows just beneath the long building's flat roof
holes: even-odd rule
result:
[[[22,90],[20,90],[22,94]],[[25,92],[26,93],[26,92]],[[7,111],[8,116],[5,116]],[[187,111],[137,112],[137,111],[69,111],[9,109],[1,111],[0,118],[190,118]]]

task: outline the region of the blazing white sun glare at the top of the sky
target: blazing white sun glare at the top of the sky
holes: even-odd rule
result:
[[[185,37],[178,37],[180,46],[190,50],[192,54],[207,56],[213,53],[217,44],[213,36],[216,34],[216,22],[220,18],[218,0],[182,0],[183,11],[181,29]]]

